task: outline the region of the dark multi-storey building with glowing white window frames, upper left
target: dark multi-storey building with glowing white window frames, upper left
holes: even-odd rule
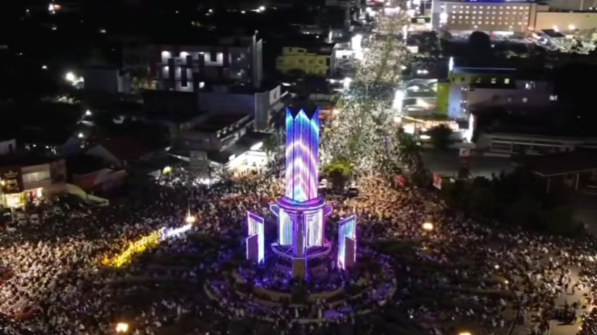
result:
[[[157,89],[196,92],[205,83],[261,85],[263,44],[256,35],[158,44],[153,50]]]

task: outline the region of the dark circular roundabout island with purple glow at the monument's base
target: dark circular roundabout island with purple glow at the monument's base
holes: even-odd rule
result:
[[[346,320],[374,311],[396,292],[390,258],[367,248],[359,250],[358,258],[369,265],[342,270],[331,262],[308,281],[292,278],[289,269],[276,261],[238,267],[229,263],[204,283],[204,290],[222,309],[241,308],[262,321],[276,321],[279,311],[290,311],[298,323]],[[377,261],[369,263],[370,259]],[[220,259],[217,264],[224,262]]]

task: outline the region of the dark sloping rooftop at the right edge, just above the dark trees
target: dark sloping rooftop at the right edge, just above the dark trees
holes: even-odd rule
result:
[[[553,177],[595,170],[597,155],[585,152],[563,152],[545,156],[525,156],[513,158],[512,164],[527,166],[541,177]]]

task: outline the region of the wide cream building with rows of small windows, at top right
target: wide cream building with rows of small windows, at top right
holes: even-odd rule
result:
[[[535,23],[537,4],[529,0],[433,2],[431,23],[435,29],[511,34],[527,32]]]

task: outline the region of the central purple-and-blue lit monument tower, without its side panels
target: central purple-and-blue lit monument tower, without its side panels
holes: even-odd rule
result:
[[[271,206],[278,217],[276,254],[292,258],[293,276],[305,278],[307,260],[330,252],[325,217],[331,206],[317,196],[319,108],[286,108],[286,192]]]

